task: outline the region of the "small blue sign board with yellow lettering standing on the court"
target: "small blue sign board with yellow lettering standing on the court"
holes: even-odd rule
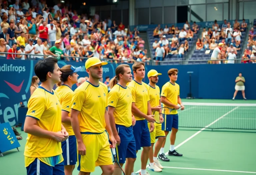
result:
[[[20,144],[14,134],[10,124],[1,123],[0,124],[0,153],[5,151],[20,147]],[[19,150],[19,149],[18,149]]]

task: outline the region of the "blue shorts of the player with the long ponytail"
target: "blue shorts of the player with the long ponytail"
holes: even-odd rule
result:
[[[125,163],[126,158],[136,158],[136,144],[132,126],[125,127],[116,124],[116,130],[120,137],[120,145],[116,147],[117,159],[119,163]]]

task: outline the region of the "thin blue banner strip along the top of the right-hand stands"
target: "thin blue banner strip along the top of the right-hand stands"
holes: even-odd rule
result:
[[[233,26],[233,24],[235,23],[235,20],[227,20],[227,22],[230,22],[230,24]],[[243,22],[243,20],[238,20],[238,22],[241,24]],[[245,22],[247,24],[249,24],[249,19],[246,19]],[[222,25],[224,23],[224,21],[217,21],[217,23],[219,25]],[[160,24],[161,28],[165,28],[165,25],[167,25],[168,27],[171,27],[172,25],[174,25],[175,27],[183,27],[185,23],[170,23],[170,24]],[[190,26],[193,25],[192,22],[189,23]],[[212,25],[214,24],[214,21],[207,21],[207,22],[196,22],[197,25],[201,26],[201,27],[212,27]],[[134,28],[136,27],[137,30],[141,31],[141,32],[145,32],[148,29],[155,29],[158,26],[158,24],[150,24],[150,25],[134,25],[134,26],[130,26],[130,30],[133,31]]]

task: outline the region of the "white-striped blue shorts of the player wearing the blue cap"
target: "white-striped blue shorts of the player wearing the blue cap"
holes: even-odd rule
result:
[[[61,142],[64,165],[75,165],[77,162],[76,136],[69,136],[67,140]]]

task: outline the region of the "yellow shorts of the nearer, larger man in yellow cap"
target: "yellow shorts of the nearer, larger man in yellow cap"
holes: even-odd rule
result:
[[[96,166],[113,164],[108,135],[105,131],[101,134],[81,135],[86,147],[86,155],[78,156],[79,171],[94,172]]]

